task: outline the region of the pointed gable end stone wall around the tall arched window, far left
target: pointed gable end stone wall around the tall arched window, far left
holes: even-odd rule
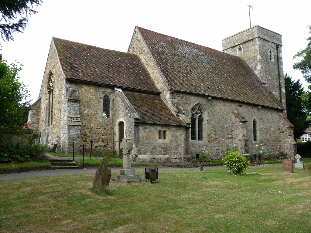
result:
[[[53,97],[53,125],[47,126],[47,106],[48,106],[48,93],[47,93],[47,81],[50,72],[53,73],[54,78],[54,97]],[[41,141],[47,143],[50,147],[53,144],[60,145],[61,140],[61,125],[62,125],[62,114],[63,114],[63,89],[64,89],[65,77],[61,70],[58,62],[58,57],[54,43],[52,41],[49,50],[49,56],[47,59],[42,86],[39,94],[41,97],[40,106],[40,121],[39,130],[41,131]],[[46,130],[45,130],[46,129]]]

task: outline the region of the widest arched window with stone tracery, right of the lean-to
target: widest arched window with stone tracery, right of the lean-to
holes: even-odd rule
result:
[[[202,108],[196,106],[191,109],[191,140],[204,140],[204,117]]]

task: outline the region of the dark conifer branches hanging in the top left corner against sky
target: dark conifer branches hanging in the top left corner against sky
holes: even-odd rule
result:
[[[25,30],[28,16],[38,13],[32,8],[41,5],[42,0],[1,0],[0,32],[3,40],[14,40],[12,33]]]

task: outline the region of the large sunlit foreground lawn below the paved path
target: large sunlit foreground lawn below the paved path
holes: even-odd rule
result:
[[[111,181],[108,195],[91,191],[94,174],[1,180],[0,232],[311,231],[311,171],[209,171],[160,169],[156,184],[137,172],[142,182]]]

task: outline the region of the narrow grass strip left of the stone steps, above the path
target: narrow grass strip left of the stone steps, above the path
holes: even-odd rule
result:
[[[50,167],[50,163],[45,160],[21,163],[0,163],[0,174],[22,171],[47,170],[50,169]]]

